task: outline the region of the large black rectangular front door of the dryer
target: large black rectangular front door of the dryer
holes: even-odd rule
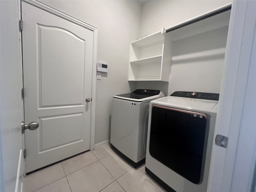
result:
[[[194,184],[200,183],[206,114],[153,105],[150,155]]]

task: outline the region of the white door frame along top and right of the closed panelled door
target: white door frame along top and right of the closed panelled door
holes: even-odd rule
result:
[[[52,8],[46,4],[43,4],[34,0],[21,0],[32,6],[36,6],[42,10],[45,10],[51,14],[54,14],[60,18],[68,20],[74,24],[82,26],[93,32],[93,55],[92,55],[92,104],[91,104],[91,125],[90,125],[90,151],[94,150],[95,140],[95,116],[96,116],[96,63],[97,63],[97,40],[98,40],[98,29],[90,24],[82,22],[68,14],[65,14],[55,8]],[[20,42],[21,44],[21,42]],[[23,73],[23,70],[22,70]]]

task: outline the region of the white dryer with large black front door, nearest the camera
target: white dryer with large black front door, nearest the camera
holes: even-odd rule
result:
[[[146,172],[167,191],[206,192],[218,98],[179,91],[150,102]]]

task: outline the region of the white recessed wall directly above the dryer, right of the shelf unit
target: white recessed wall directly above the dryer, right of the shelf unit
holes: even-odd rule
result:
[[[172,58],[180,59],[171,62],[168,95],[175,91],[220,93],[227,35],[228,26],[173,42]],[[188,54],[197,56],[182,59]]]

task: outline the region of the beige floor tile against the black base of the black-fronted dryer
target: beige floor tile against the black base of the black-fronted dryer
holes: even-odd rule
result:
[[[163,192],[164,190],[158,186],[149,176],[145,174],[145,166],[132,169],[126,174],[118,178],[118,183],[126,192]]]

